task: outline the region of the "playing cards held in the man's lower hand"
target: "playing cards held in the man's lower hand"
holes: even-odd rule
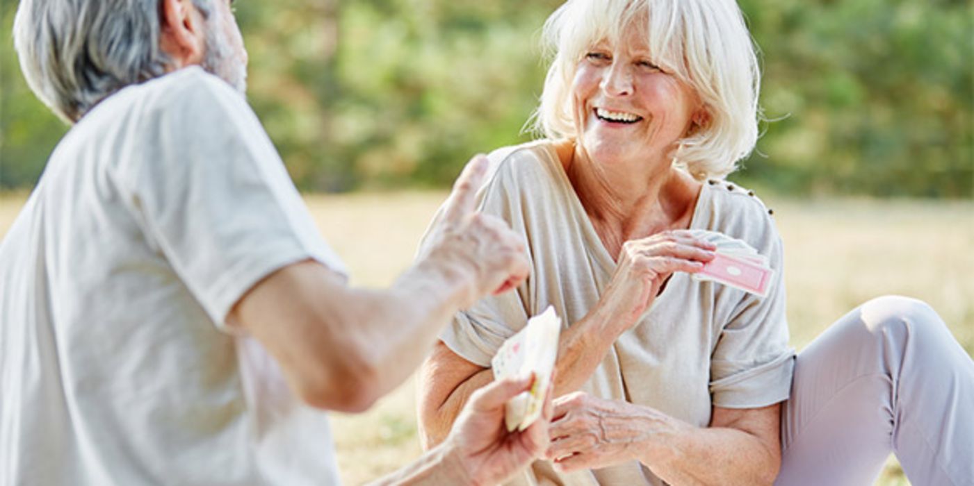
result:
[[[535,373],[531,390],[507,400],[505,424],[507,432],[523,431],[542,415],[544,393],[551,382],[554,361],[558,356],[558,335],[561,319],[550,305],[544,312],[528,320],[523,330],[510,336],[491,360],[495,379],[508,376],[524,377]]]

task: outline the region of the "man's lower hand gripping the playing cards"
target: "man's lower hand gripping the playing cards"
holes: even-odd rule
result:
[[[471,484],[498,484],[539,459],[548,445],[551,420],[551,389],[544,395],[541,418],[521,432],[508,433],[505,403],[530,390],[534,377],[495,381],[470,396],[457,418],[446,444],[459,453],[462,469]]]

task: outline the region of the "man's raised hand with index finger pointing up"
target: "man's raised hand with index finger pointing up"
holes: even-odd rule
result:
[[[475,211],[487,165],[486,156],[470,159],[431,229],[428,257],[458,269],[470,282],[464,307],[517,287],[530,271],[522,238],[503,220]]]

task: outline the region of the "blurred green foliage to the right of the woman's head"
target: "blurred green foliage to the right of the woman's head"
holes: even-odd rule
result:
[[[742,0],[770,122],[745,180],[807,192],[970,197],[967,2]]]

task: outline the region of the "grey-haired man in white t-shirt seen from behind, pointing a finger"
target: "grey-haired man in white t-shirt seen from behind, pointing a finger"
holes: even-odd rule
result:
[[[21,0],[15,42],[73,126],[0,246],[0,485],[334,484],[321,409],[368,408],[527,274],[472,211],[477,157],[431,250],[388,290],[347,287],[244,100],[229,0]],[[526,465],[546,421],[506,434],[503,414],[529,386],[486,390],[387,479]]]

